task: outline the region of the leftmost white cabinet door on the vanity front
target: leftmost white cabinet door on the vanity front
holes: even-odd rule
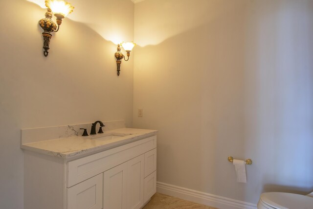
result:
[[[102,209],[102,173],[67,188],[67,209]]]

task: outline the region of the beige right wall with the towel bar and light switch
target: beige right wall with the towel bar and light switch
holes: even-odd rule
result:
[[[312,20],[312,0],[135,4],[133,126],[159,130],[157,181],[250,203],[313,190]],[[246,184],[228,156],[252,159]]]

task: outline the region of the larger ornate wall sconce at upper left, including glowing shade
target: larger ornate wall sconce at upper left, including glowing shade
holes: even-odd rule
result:
[[[45,13],[45,18],[39,21],[39,25],[44,29],[44,55],[48,56],[48,49],[50,38],[52,37],[52,32],[58,32],[62,19],[65,18],[69,13],[71,13],[74,7],[64,0],[45,0],[45,6],[47,7],[47,12]],[[57,19],[57,25],[52,21],[52,13]]]

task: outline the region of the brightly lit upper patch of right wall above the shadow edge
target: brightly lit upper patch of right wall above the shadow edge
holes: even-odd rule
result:
[[[161,0],[136,3],[136,44],[158,45],[166,39],[233,13],[239,7],[245,7],[245,4],[243,0],[193,0],[192,3],[189,0]]]

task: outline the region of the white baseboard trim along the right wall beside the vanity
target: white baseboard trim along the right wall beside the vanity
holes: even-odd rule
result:
[[[256,205],[252,203],[208,194],[180,186],[169,185],[162,182],[156,182],[156,191],[218,209],[257,209]]]

